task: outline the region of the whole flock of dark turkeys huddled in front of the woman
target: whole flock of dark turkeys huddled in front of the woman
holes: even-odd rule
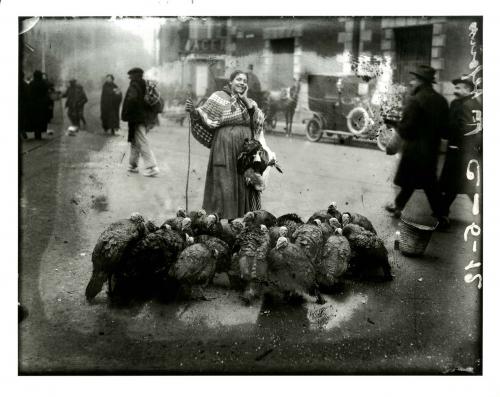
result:
[[[91,301],[106,281],[114,299],[206,299],[203,287],[226,273],[231,288],[251,303],[263,294],[285,300],[305,295],[324,303],[347,275],[391,280],[387,249],[363,215],[335,203],[307,222],[297,214],[276,218],[265,210],[221,222],[203,209],[179,210],[160,227],[134,213],[112,223],[92,252]]]

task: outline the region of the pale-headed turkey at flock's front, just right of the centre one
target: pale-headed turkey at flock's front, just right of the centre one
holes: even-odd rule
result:
[[[325,303],[316,283],[314,266],[299,246],[280,237],[268,257],[267,293],[278,293],[285,298],[307,294],[316,297],[317,303]]]

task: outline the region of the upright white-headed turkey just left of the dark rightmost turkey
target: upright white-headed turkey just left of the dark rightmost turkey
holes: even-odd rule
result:
[[[314,264],[316,281],[321,288],[331,290],[339,284],[339,279],[347,271],[351,259],[351,247],[342,229],[336,229],[328,238],[320,260]]]

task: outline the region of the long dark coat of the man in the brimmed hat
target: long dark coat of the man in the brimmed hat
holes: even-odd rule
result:
[[[436,181],[441,137],[448,128],[448,103],[431,85],[417,87],[403,110],[398,133],[403,138],[394,183],[423,188]]]

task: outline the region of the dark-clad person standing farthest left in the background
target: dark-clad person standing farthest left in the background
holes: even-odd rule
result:
[[[35,139],[42,139],[42,133],[47,132],[50,98],[48,86],[39,70],[35,70],[29,84],[29,98],[31,128],[35,132]]]

